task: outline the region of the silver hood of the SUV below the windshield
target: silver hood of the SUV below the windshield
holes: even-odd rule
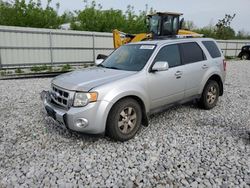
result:
[[[133,71],[93,67],[57,76],[52,80],[52,84],[67,90],[89,91],[97,86],[128,77],[135,73]]]

